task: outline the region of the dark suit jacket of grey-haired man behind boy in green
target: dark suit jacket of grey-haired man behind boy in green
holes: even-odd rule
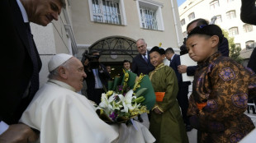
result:
[[[145,62],[141,54],[138,54],[132,59],[131,71],[140,76],[140,73],[148,75],[150,71],[154,70],[154,66],[150,63],[149,51],[148,51],[148,62]]]

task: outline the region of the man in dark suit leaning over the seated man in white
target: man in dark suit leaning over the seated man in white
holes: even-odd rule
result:
[[[18,123],[39,88],[41,61],[29,22],[58,20],[62,0],[1,0],[0,142],[35,141],[37,134]]]

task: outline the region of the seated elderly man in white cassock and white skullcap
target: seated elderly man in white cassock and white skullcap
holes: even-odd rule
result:
[[[148,129],[108,125],[98,118],[96,108],[79,90],[83,87],[83,64],[60,53],[51,58],[49,81],[36,93],[20,122],[40,131],[41,143],[154,142]]]

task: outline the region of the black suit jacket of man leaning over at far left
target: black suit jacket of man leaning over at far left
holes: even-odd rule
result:
[[[26,27],[16,0],[1,0],[1,95],[0,118],[8,124],[17,123],[33,95],[22,99],[30,81],[33,65]],[[35,45],[35,43],[34,43]],[[36,48],[36,45],[34,46]],[[35,49],[36,50],[36,49]],[[41,62],[37,53],[40,71]]]

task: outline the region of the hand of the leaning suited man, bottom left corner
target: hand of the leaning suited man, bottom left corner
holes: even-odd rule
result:
[[[10,125],[0,135],[0,143],[26,143],[38,139],[39,135],[23,123]]]

